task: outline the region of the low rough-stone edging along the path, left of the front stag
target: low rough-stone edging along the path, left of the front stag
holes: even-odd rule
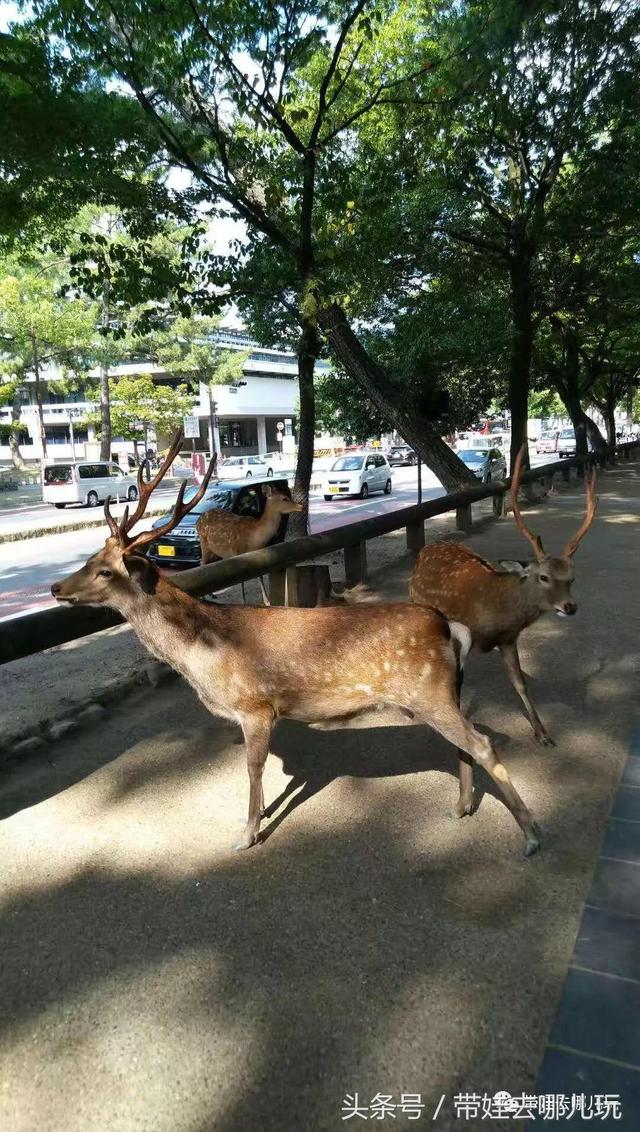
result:
[[[92,727],[106,715],[106,709],[111,704],[119,704],[145,686],[157,688],[177,678],[178,672],[169,664],[150,660],[142,670],[126,677],[116,677],[100,692],[67,707],[65,714],[42,719],[39,723],[24,727],[17,735],[0,735],[0,767],[32,755],[48,756],[52,744],[66,738],[71,731]]]

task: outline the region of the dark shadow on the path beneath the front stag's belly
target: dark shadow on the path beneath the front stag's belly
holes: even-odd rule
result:
[[[339,736],[335,731],[340,732]],[[484,731],[489,734],[496,747],[507,741],[507,737],[500,732],[487,728]],[[427,737],[428,744],[425,743]],[[270,753],[282,761],[283,773],[290,775],[290,781],[263,811],[263,817],[270,824],[261,831],[261,842],[267,841],[299,806],[340,778],[395,778],[437,771],[458,780],[456,748],[423,723],[316,730],[305,723],[282,720],[274,728]],[[480,772],[481,767],[473,767],[473,814],[486,794],[506,805],[490,778]],[[451,794],[452,817],[456,800],[454,788]]]

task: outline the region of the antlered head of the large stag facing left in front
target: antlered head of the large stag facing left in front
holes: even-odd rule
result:
[[[62,582],[53,583],[51,593],[57,601],[69,604],[112,606],[122,612],[140,592],[153,593],[160,574],[148,558],[137,554],[137,551],[173,530],[185,515],[188,515],[200,501],[213,472],[214,462],[212,461],[199,489],[188,504],[184,501],[187,489],[185,480],[180,484],[178,498],[167,522],[153,530],[140,531],[138,534],[131,535],[129,532],[143,517],[152,492],[176,460],[181,444],[182,431],[180,430],[173,438],[160,469],[148,483],[143,480],[145,464],[140,464],[138,469],[138,504],[133,515],[129,515],[127,506],[122,518],[114,518],[110,511],[111,497],[104,500],[104,517],[111,534],[103,549],[92,555],[80,569],[69,574],[69,577]]]

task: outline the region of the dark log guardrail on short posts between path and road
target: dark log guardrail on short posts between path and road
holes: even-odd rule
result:
[[[632,452],[640,448],[640,441],[618,445],[616,456],[629,460]],[[584,468],[596,464],[604,465],[611,461],[611,455],[590,453],[588,456],[573,456],[531,469],[522,475],[522,483],[536,483],[552,480],[560,472],[569,481],[572,469],[582,475]],[[263,550],[251,550],[246,555],[237,555],[210,566],[197,566],[195,569],[177,574],[172,581],[179,589],[196,598],[215,593],[230,585],[248,582],[251,578],[268,574],[271,578],[272,600],[281,604],[284,600],[284,578],[288,566],[296,566],[313,558],[321,558],[335,550],[344,552],[344,575],[348,585],[355,585],[366,576],[366,544],[369,539],[389,534],[391,531],[407,529],[407,546],[409,550],[418,551],[425,544],[425,521],[436,515],[455,511],[456,523],[466,533],[471,531],[471,507],[481,499],[494,500],[494,514],[504,511],[504,497],[511,480],[495,483],[478,484],[462,491],[430,499],[427,503],[402,507],[387,512],[374,518],[360,520],[348,526],[336,528],[323,534],[309,534],[306,538],[292,539]],[[77,608],[51,609],[35,614],[25,614],[12,620],[0,623],[0,664],[19,660],[34,652],[42,652],[54,645],[100,633],[122,624],[119,614],[110,609],[96,609],[92,606]]]

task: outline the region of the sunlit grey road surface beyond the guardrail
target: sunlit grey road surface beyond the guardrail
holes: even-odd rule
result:
[[[534,463],[544,463],[545,460],[534,456]],[[312,496],[312,531],[319,533],[416,503],[417,469],[395,468],[392,475],[393,491],[390,496],[375,495],[367,500],[333,499],[331,503],[326,503],[321,495]],[[165,497],[169,503],[173,495],[174,491],[159,491],[156,498]],[[435,499],[441,495],[444,495],[442,484],[427,468],[423,468],[423,499]],[[41,504],[25,511],[31,515],[31,520],[25,521],[28,529],[36,526],[37,516],[50,514],[51,508]],[[2,514],[6,516],[8,512]],[[51,604],[51,583],[78,569],[103,541],[104,532],[94,528],[0,544],[0,620]]]

